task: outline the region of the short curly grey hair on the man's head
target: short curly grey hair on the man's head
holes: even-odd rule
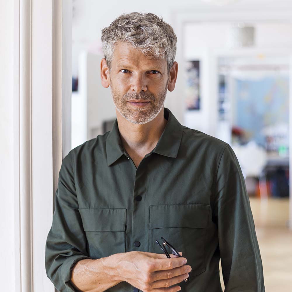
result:
[[[102,51],[111,71],[114,47],[118,41],[131,44],[146,56],[165,58],[170,72],[176,53],[177,37],[162,16],[153,13],[123,13],[101,31]]]

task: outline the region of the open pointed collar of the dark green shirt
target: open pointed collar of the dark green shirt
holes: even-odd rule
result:
[[[175,118],[173,113],[166,107],[164,107],[164,117],[168,120],[163,133],[161,134],[157,145],[152,150],[157,154],[161,154],[168,157],[176,158],[178,154],[178,148],[180,147],[180,141],[183,134],[183,126]],[[110,166],[123,154],[126,153],[121,142],[119,135],[118,121],[115,119],[112,126],[112,130],[109,131],[106,140],[107,151],[107,165]]]

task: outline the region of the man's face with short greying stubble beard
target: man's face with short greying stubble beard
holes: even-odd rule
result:
[[[165,59],[146,57],[131,44],[120,42],[109,75],[114,105],[126,120],[146,124],[157,117],[169,81]]]

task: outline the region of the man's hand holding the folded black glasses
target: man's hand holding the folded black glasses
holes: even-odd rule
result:
[[[123,281],[144,292],[179,291],[180,286],[170,286],[187,279],[187,273],[192,270],[183,263],[185,258],[173,254],[166,258],[164,253],[130,251],[120,256],[117,273]]]

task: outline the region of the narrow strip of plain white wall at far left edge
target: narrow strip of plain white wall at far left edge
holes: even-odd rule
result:
[[[0,9],[0,282],[2,291],[14,286],[13,199],[13,2],[1,1]]]

